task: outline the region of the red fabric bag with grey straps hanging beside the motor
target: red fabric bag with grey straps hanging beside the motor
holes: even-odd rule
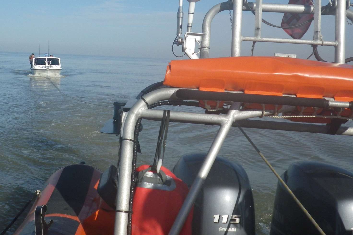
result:
[[[136,171],[143,171],[149,167],[151,166],[142,165]],[[140,187],[137,183],[132,205],[133,235],[167,235],[189,192],[187,185],[170,170],[162,166],[161,171],[174,180],[175,188],[167,191]],[[193,210],[185,221],[181,235],[191,235],[192,213]]]

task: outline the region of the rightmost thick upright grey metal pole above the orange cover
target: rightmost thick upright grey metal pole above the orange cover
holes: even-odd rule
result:
[[[345,64],[346,0],[336,0],[335,62]]]

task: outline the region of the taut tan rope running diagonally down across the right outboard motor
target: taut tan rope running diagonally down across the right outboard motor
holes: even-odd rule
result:
[[[287,192],[292,196],[292,198],[294,199],[294,201],[298,204],[298,206],[300,207],[301,210],[303,210],[303,212],[305,213],[305,215],[309,218],[309,220],[311,221],[311,223],[315,226],[315,228],[319,231],[319,233],[321,235],[325,235],[324,231],[320,228],[320,226],[316,223],[316,221],[314,220],[314,218],[309,214],[309,212],[305,209],[305,207],[300,203],[300,201],[298,200],[297,197],[295,197],[294,193],[292,192],[292,190],[287,186],[287,184],[285,183],[285,181],[282,180],[281,176],[276,172],[276,170],[272,167],[272,165],[269,163],[269,161],[267,161],[267,159],[265,158],[265,156],[260,152],[260,150],[256,147],[256,145],[252,142],[252,140],[250,139],[250,137],[245,133],[245,131],[243,130],[243,128],[241,128],[241,126],[238,124],[237,121],[235,121],[235,124],[238,126],[238,128],[240,129],[241,133],[243,133],[243,135],[245,136],[245,138],[247,140],[249,140],[250,144],[254,147],[254,149],[256,150],[256,152],[260,155],[260,157],[264,160],[264,162],[268,165],[268,167],[272,170],[272,172],[276,175],[276,177],[278,178],[278,180],[282,183],[283,187],[285,187],[285,189],[287,190]]]

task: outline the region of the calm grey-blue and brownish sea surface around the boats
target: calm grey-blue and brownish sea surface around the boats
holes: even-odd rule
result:
[[[28,56],[28,53],[0,52],[0,231],[58,168],[81,161],[101,170],[116,164],[119,138],[100,133],[113,116],[113,102],[134,98],[146,86],[163,80],[169,62],[55,55],[61,58],[62,77],[45,78],[30,76]],[[52,83],[66,95],[93,104],[62,95]],[[152,163],[159,125],[143,120],[139,164]],[[217,129],[170,123],[164,165],[172,168],[187,153],[207,153]],[[353,170],[349,148],[352,137],[245,131],[279,174],[300,160],[322,161]],[[275,176],[236,128],[229,132],[219,155],[237,161],[246,170],[253,189],[257,234],[269,234]],[[28,209],[11,233],[27,212]]]

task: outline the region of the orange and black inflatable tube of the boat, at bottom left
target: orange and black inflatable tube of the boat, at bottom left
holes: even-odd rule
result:
[[[113,234],[115,211],[97,192],[102,171],[85,164],[57,170],[47,180],[28,216],[15,235],[35,234],[36,208],[47,205],[48,234]]]

